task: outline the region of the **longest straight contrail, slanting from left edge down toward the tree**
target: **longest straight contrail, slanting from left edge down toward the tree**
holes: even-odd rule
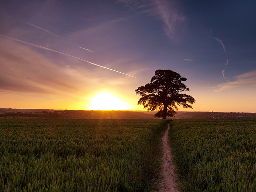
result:
[[[101,65],[92,63],[92,62],[90,62],[90,61],[86,61],[86,60],[80,59],[80,58],[78,58],[78,57],[75,57],[75,56],[66,54],[66,53],[62,53],[62,52],[59,52],[59,51],[56,51],[56,50],[53,50],[53,49],[49,49],[49,48],[46,48],[46,47],[42,47],[42,46],[39,46],[39,45],[35,45],[35,44],[32,44],[32,43],[28,43],[28,42],[26,42],[26,41],[18,40],[18,39],[15,39],[15,38],[12,38],[12,37],[9,37],[9,36],[5,36],[5,35],[2,35],[2,34],[0,34],[0,35],[1,35],[1,36],[4,36],[4,37],[6,37],[6,38],[10,38],[10,39],[12,39],[12,40],[14,40],[14,41],[17,41],[17,42],[21,42],[21,43],[28,44],[28,45],[31,45],[31,46],[34,46],[34,47],[38,47],[38,48],[41,48],[41,49],[45,49],[45,50],[53,51],[53,52],[56,52],[56,53],[60,53],[60,54],[66,55],[66,56],[70,56],[70,57],[73,57],[73,58],[76,58],[76,59],[85,61],[85,62],[90,63],[90,64],[92,64],[92,65],[96,65],[96,66],[98,66],[98,67],[102,67],[102,68],[105,68],[105,69],[108,69],[108,70],[112,70],[112,71],[114,71],[114,72],[118,72],[118,73],[121,73],[121,74],[130,76],[130,77],[134,77],[134,76],[131,76],[131,75],[122,73],[122,72],[120,72],[120,71],[116,71],[116,70],[114,70],[114,69],[110,69],[110,68],[107,68],[107,67],[104,67],[104,66],[101,66]],[[136,78],[136,77],[134,77],[134,78]]]

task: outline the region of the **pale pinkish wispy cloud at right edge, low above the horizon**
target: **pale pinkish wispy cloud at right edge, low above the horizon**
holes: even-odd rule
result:
[[[227,83],[218,84],[218,89],[215,92],[229,90],[232,88],[244,87],[244,86],[256,86],[256,70],[248,73],[244,73],[234,77],[236,80]]]

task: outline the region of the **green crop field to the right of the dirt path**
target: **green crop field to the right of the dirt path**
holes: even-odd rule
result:
[[[174,120],[169,142],[180,191],[256,191],[256,120]]]

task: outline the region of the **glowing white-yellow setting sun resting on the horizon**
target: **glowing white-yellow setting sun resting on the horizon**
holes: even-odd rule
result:
[[[128,104],[110,93],[96,94],[90,102],[90,110],[127,110]]]

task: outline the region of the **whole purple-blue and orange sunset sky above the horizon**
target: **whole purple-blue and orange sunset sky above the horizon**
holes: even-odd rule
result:
[[[143,110],[158,69],[193,109],[256,112],[254,0],[0,0],[0,108]],[[105,108],[100,108],[105,106]]]

